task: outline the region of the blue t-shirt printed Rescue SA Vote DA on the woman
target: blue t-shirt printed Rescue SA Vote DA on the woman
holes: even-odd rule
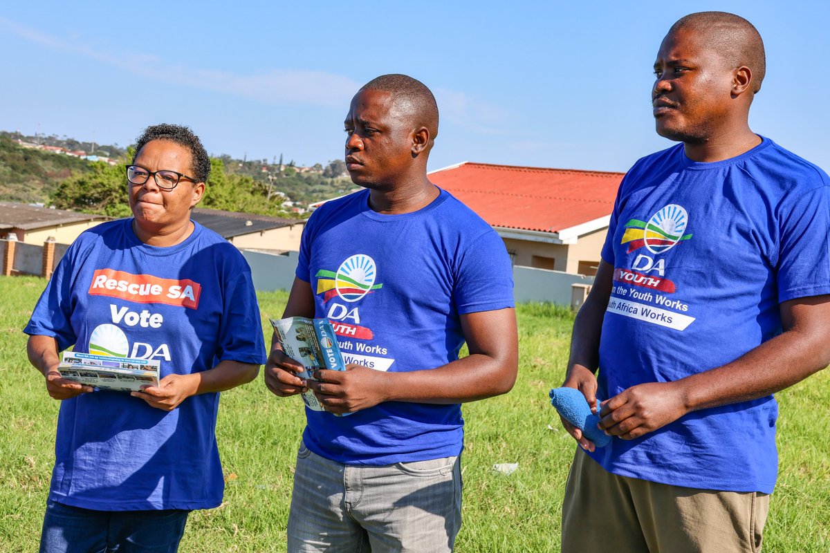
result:
[[[251,271],[242,254],[194,222],[166,248],[132,219],[86,230],[66,250],[24,332],[61,350],[156,359],[161,377],[232,360],[265,361]],[[61,401],[49,498],[102,511],[203,509],[222,502],[219,394],[166,412],[125,392]]]

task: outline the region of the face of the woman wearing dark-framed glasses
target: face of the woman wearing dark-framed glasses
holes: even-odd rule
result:
[[[169,140],[151,140],[135,157],[134,165],[149,172],[175,171],[193,176],[193,156],[188,148]],[[190,221],[190,208],[202,199],[204,182],[190,182],[182,177],[173,190],[162,190],[154,177],[144,184],[127,183],[129,207],[135,223],[150,235],[165,234]]]

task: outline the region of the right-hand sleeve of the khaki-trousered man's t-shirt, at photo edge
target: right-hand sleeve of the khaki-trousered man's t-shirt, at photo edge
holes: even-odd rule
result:
[[[784,201],[780,216],[779,303],[830,293],[830,186]]]

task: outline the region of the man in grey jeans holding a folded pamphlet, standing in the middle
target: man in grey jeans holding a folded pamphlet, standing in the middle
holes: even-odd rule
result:
[[[305,410],[288,551],[452,551],[460,404],[515,381],[510,259],[485,221],[427,179],[437,129],[419,81],[364,85],[346,116],[345,161],[365,190],[305,226],[283,316],[329,318],[349,365],[304,381],[276,341],[266,364],[273,393],[314,390],[329,411]]]

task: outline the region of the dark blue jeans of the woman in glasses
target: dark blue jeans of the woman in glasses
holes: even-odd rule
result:
[[[175,553],[189,511],[93,511],[46,502],[41,553]]]

